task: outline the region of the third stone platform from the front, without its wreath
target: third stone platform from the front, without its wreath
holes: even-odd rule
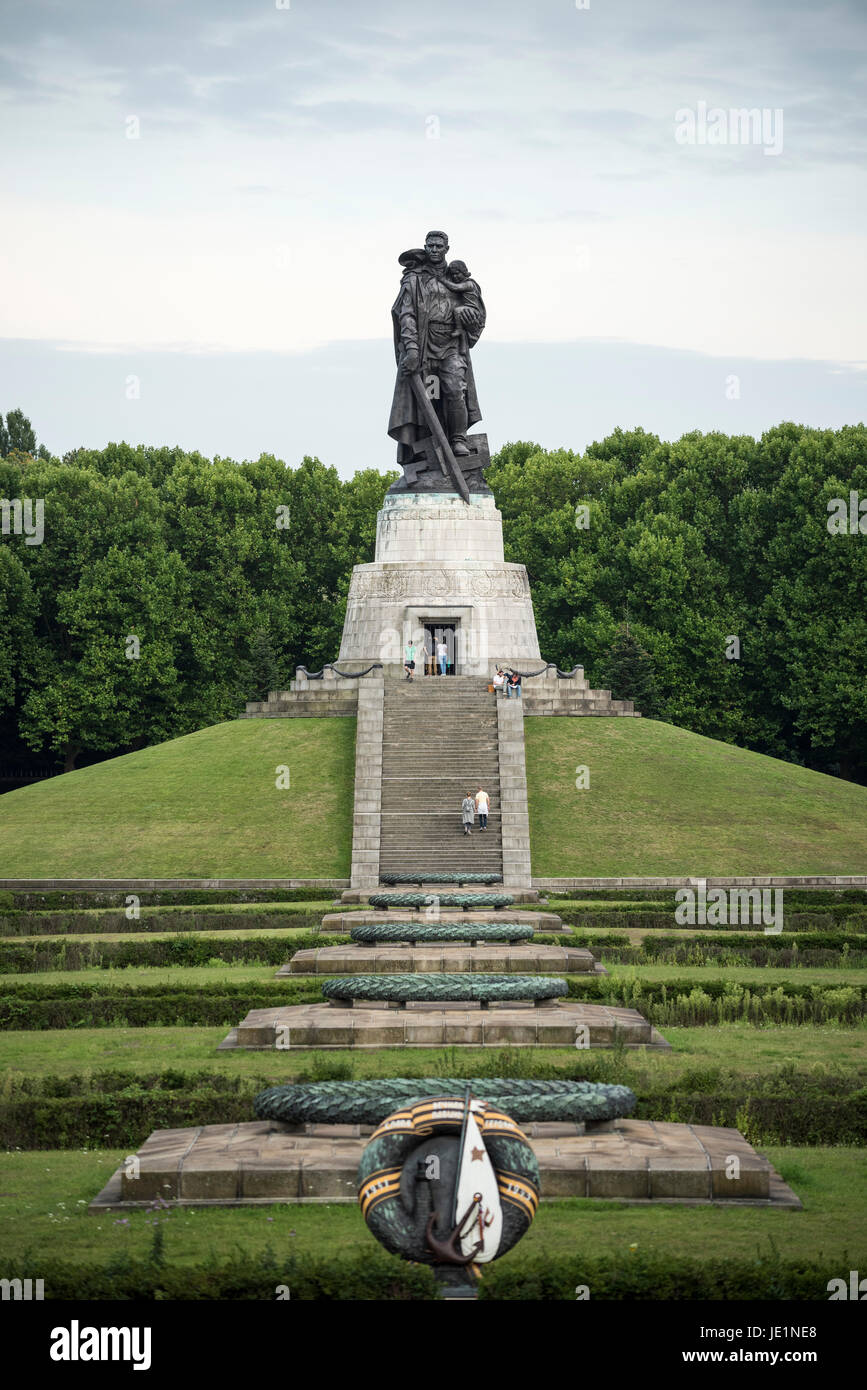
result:
[[[276,972],[276,979],[289,974],[403,974],[403,973],[468,973],[474,970],[499,974],[607,974],[592,951],[584,947],[543,947],[532,944],[492,945],[489,941],[470,945],[450,941],[436,945],[346,945],[320,947],[296,951]]]

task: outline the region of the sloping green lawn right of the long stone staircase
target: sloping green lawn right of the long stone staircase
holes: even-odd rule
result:
[[[654,720],[524,728],[539,877],[864,873],[867,787]]]

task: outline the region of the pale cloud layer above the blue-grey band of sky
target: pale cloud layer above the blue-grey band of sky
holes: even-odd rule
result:
[[[861,3],[7,0],[0,332],[364,338],[445,225],[492,335],[860,360]],[[782,154],[677,145],[697,100]]]

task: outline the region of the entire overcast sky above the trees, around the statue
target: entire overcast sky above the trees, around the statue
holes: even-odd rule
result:
[[[495,445],[867,417],[863,0],[0,18],[0,410],[54,450],[389,467],[396,257],[432,227],[482,285]],[[702,107],[727,143],[675,138]]]

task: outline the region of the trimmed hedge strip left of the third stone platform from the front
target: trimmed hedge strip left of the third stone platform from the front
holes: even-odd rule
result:
[[[336,947],[346,937],[210,937],[179,935],[160,941],[44,941],[10,944],[0,941],[0,974],[31,974],[35,970],[103,970],[126,966],[207,965],[210,960],[243,960],[257,965],[285,965],[296,951]]]

